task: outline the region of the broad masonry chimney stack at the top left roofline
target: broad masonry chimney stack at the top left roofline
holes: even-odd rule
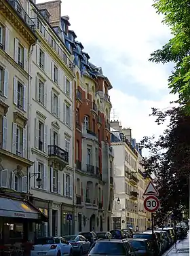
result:
[[[60,17],[61,17],[61,1],[50,1],[45,3],[38,3],[37,7],[39,10],[48,10],[50,14],[50,24],[52,26],[60,25]]]

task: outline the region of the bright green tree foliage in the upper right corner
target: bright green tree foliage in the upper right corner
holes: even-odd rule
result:
[[[164,24],[170,26],[172,39],[161,50],[151,54],[153,62],[174,63],[168,78],[171,93],[178,93],[178,103],[190,113],[190,3],[189,0],[154,0],[158,14],[164,14]]]

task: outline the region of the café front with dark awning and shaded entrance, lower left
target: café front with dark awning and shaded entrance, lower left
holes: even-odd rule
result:
[[[35,239],[33,223],[48,221],[31,202],[0,197],[0,242],[32,242]]]

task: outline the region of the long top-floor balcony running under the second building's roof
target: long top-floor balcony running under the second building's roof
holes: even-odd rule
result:
[[[58,45],[58,43],[54,41],[54,39],[52,38],[52,35],[50,35],[50,33],[45,29],[45,26],[43,26],[43,23],[41,22],[41,20],[39,18],[32,18],[32,20],[35,23],[35,26],[37,27],[37,30],[39,31],[39,34],[41,35],[41,37],[43,37],[45,41],[47,41],[47,43],[50,45],[50,48],[52,48],[58,54],[58,56],[64,62],[64,64],[73,73],[75,73],[75,65],[73,64],[73,62],[71,62],[71,60],[69,60],[67,55]]]

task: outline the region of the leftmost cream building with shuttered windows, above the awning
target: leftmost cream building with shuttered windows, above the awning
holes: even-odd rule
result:
[[[28,147],[29,62],[37,37],[33,21],[17,1],[11,5],[1,0],[0,5],[0,187],[1,192],[26,196],[27,170],[33,166]]]

